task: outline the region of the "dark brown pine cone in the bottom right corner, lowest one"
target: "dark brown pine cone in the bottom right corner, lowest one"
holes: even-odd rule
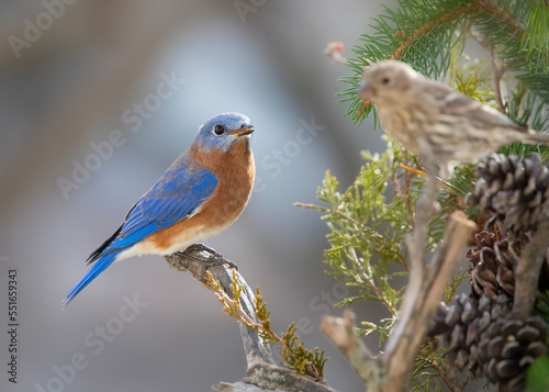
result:
[[[539,316],[501,318],[481,334],[483,372],[500,392],[525,390],[526,370],[547,352],[547,324]]]

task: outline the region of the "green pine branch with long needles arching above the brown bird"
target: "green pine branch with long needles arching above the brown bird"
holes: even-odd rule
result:
[[[347,60],[354,75],[341,78],[349,85],[340,92],[341,102],[348,102],[346,114],[357,124],[373,110],[357,98],[363,67],[392,58],[425,76],[445,77],[452,65],[452,51],[462,53],[471,35],[480,35],[493,48],[538,104],[549,104],[547,1],[400,0],[396,10],[384,7],[369,27],[373,32],[361,36],[362,44],[352,48],[355,56]]]

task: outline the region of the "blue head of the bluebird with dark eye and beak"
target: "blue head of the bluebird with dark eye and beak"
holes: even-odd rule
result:
[[[226,152],[237,142],[248,142],[254,131],[254,125],[244,114],[222,113],[200,127],[194,143],[199,143],[205,150],[219,148]]]

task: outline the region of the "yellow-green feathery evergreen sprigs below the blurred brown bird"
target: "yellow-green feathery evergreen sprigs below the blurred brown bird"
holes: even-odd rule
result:
[[[381,320],[365,320],[361,335],[378,333],[380,346],[391,334],[397,318],[399,302],[404,293],[407,275],[404,237],[412,231],[413,214],[425,183],[416,158],[404,154],[400,145],[383,136],[388,148],[382,154],[362,152],[366,164],[354,183],[340,191],[337,178],[329,171],[318,188],[318,200],[328,206],[296,203],[298,206],[323,213],[330,233],[329,248],[324,262],[327,272],[357,293],[336,306],[348,306],[355,302],[377,301],[386,309]],[[404,168],[403,168],[404,165]],[[411,166],[407,166],[411,165]],[[412,171],[414,170],[414,171]],[[471,189],[471,181],[460,170],[456,180],[447,184],[439,195],[440,212],[430,222],[428,244],[425,251],[435,249],[441,240],[450,212],[459,208],[458,199]],[[461,182],[464,182],[461,183]],[[447,288],[449,302],[467,272],[458,271]],[[401,278],[401,279],[399,279]],[[416,391],[426,391],[435,378],[456,384],[441,366],[444,360],[435,347],[425,345],[416,360],[413,384]]]

